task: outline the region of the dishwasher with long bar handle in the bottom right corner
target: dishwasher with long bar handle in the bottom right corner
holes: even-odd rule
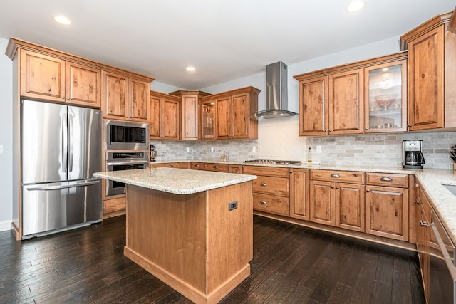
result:
[[[437,214],[433,210],[431,212],[431,239],[437,240],[440,252],[432,254],[431,251],[430,255],[429,303],[456,304],[455,244],[452,243]]]

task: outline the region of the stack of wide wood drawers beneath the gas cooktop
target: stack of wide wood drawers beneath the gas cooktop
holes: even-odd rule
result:
[[[253,181],[254,210],[289,216],[289,168],[242,166],[242,173],[257,175]]]

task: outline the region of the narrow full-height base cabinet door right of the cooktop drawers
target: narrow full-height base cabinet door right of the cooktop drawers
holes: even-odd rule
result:
[[[291,174],[290,216],[309,221],[309,213],[309,170],[293,169]]]

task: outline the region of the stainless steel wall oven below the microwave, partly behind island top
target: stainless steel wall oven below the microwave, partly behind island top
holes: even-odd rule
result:
[[[149,164],[147,152],[107,152],[106,171],[145,169]],[[106,196],[125,194],[125,184],[106,181]]]

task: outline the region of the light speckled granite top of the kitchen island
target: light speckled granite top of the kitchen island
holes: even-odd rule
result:
[[[174,168],[98,172],[93,176],[173,194],[193,194],[257,179],[255,175]]]

